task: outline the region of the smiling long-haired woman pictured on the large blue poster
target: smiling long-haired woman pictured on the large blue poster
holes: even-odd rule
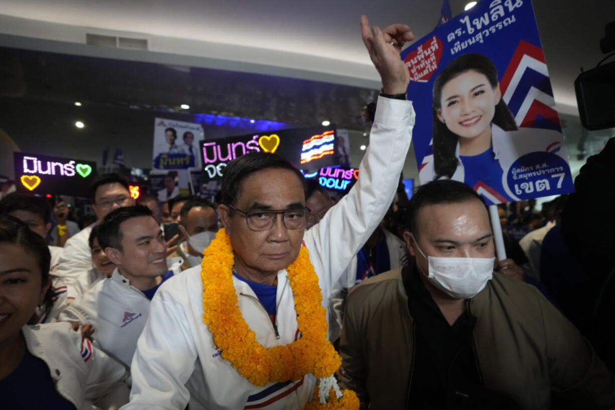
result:
[[[559,132],[517,127],[502,99],[498,68],[482,54],[461,55],[438,74],[432,112],[434,153],[423,159],[421,181],[465,182],[491,204],[519,199],[507,182],[516,159],[561,143]]]

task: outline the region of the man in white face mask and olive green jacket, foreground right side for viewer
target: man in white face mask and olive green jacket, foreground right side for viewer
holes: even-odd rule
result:
[[[615,408],[615,377],[535,287],[496,267],[485,204],[437,180],[408,206],[415,263],[347,297],[342,383],[362,409]],[[505,262],[505,261],[502,261]]]

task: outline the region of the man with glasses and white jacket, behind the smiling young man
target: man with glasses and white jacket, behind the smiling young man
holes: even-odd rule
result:
[[[117,174],[99,175],[92,183],[91,190],[94,199],[92,207],[98,222],[119,207],[135,204],[135,200],[130,196],[128,181]],[[68,238],[62,258],[54,271],[54,275],[62,277],[66,283],[69,302],[79,296],[79,287],[73,286],[73,283],[82,275],[88,275],[87,272],[93,266],[88,243],[91,231],[92,225]]]

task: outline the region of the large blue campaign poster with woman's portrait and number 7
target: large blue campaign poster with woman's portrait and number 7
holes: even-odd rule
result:
[[[530,0],[483,0],[402,52],[419,179],[487,204],[574,191]]]

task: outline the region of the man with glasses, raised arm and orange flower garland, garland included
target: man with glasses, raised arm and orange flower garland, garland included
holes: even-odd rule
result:
[[[370,30],[367,17],[361,26],[383,90],[359,180],[306,231],[300,171],[269,153],[231,161],[218,206],[224,229],[200,266],[154,296],[124,410],[304,409],[317,377],[323,391],[335,386],[330,376],[341,360],[327,342],[331,287],[395,195],[415,117],[399,57],[413,38],[408,26]],[[353,395],[344,392],[340,403]]]

